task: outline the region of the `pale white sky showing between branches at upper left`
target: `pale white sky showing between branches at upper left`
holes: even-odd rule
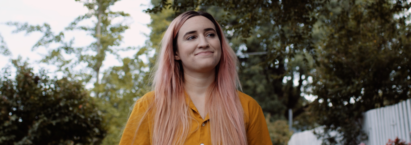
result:
[[[150,0],[121,0],[111,6],[110,9],[114,12],[123,11],[130,14],[130,18],[125,20],[129,25],[129,29],[123,34],[123,42],[120,48],[128,46],[143,46],[148,39],[151,30],[147,27],[150,23],[150,15],[143,12],[149,7]],[[31,67],[35,71],[40,68],[53,71],[56,68],[38,63],[49,50],[58,46],[57,44],[49,46],[49,48],[40,47],[32,51],[32,46],[42,37],[40,32],[30,33],[25,32],[12,33],[15,27],[5,25],[7,22],[29,23],[30,25],[43,25],[48,23],[51,30],[56,34],[64,31],[64,28],[69,25],[78,16],[84,15],[88,9],[81,2],[75,0],[1,0],[0,1],[0,35],[4,38],[11,56],[0,55],[0,69],[5,68],[10,64],[10,59],[16,59],[19,56],[23,60],[28,60]],[[94,19],[96,20],[96,19]],[[83,21],[81,25],[91,26],[94,20]],[[115,21],[115,20],[113,20]],[[119,20],[120,21],[120,20]],[[88,46],[95,39],[88,33],[80,30],[65,32],[65,40],[69,41],[74,38],[74,46]],[[132,57],[136,51],[119,53],[122,58]],[[122,63],[115,58],[114,55],[107,55],[103,62],[102,69],[106,70],[112,66],[120,66]]]

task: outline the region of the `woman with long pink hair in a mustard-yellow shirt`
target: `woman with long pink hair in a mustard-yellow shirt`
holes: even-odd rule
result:
[[[134,105],[120,145],[271,145],[261,107],[215,19],[188,11],[162,39],[154,91]]]

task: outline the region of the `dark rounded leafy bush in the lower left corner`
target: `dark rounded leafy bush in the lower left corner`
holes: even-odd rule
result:
[[[34,74],[14,60],[16,78],[0,78],[0,144],[99,144],[106,134],[102,111],[81,82]]]

